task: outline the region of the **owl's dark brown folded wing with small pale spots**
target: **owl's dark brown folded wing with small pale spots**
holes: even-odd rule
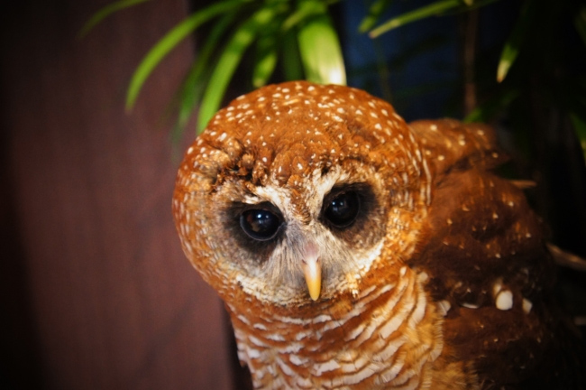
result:
[[[454,120],[410,126],[434,175],[410,265],[431,276],[428,292],[445,312],[445,352],[473,361],[482,388],[581,388],[572,376],[543,387],[579,360],[566,354],[563,362],[573,336],[554,302],[545,228],[522,190],[491,172],[505,160],[493,130]]]

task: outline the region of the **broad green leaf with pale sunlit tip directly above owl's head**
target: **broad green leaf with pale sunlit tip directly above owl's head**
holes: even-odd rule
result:
[[[346,84],[340,40],[326,12],[311,17],[299,28],[298,44],[307,80],[320,84]]]

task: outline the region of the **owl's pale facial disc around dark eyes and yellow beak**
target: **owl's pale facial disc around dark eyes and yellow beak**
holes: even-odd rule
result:
[[[270,302],[315,302],[352,291],[380,250],[386,192],[378,179],[349,179],[342,168],[316,170],[295,198],[275,182],[225,182],[217,196],[231,201],[219,216],[236,244],[218,250],[229,259],[220,264],[225,274],[238,269],[238,285]]]

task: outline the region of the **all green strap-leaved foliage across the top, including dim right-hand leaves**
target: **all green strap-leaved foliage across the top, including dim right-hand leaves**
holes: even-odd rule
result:
[[[119,0],[105,6],[86,23],[80,35],[87,34],[108,15],[147,1]],[[373,0],[368,2],[368,12],[357,31],[368,32],[374,39],[407,23],[431,16],[468,13],[497,1],[499,0],[437,0],[380,22],[394,2]],[[199,47],[196,60],[177,93],[177,132],[188,124],[197,107],[197,129],[203,130],[222,104],[225,91],[247,51],[253,51],[254,54],[250,75],[252,88],[265,85],[278,69],[284,79],[345,84],[340,37],[331,15],[332,5],[339,2],[340,0],[222,0],[206,5],[173,27],[145,55],[130,81],[126,108],[133,108],[144,82],[169,51],[203,26],[209,28],[206,40]],[[504,81],[519,58],[526,64],[524,56],[528,52],[531,55],[536,54],[528,47],[535,41],[532,38],[539,35],[538,30],[543,25],[540,24],[543,23],[541,19],[548,16],[547,8],[568,5],[575,10],[572,23],[586,44],[586,5],[580,5],[578,0],[564,0],[556,5],[545,0],[522,2],[517,24],[505,42],[499,65],[494,70],[499,84],[491,87],[490,98],[482,99],[482,104],[466,120],[488,121],[524,96],[518,77]],[[547,53],[542,53],[542,56],[546,55]],[[571,97],[564,98],[564,107],[569,112],[586,158],[586,101],[583,98],[586,96],[586,81],[577,81],[576,86],[579,88]]]

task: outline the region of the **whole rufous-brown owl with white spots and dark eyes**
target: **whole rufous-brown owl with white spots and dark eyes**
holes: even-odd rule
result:
[[[220,110],[179,167],[185,254],[255,388],[582,388],[554,264],[487,125],[342,86]]]

